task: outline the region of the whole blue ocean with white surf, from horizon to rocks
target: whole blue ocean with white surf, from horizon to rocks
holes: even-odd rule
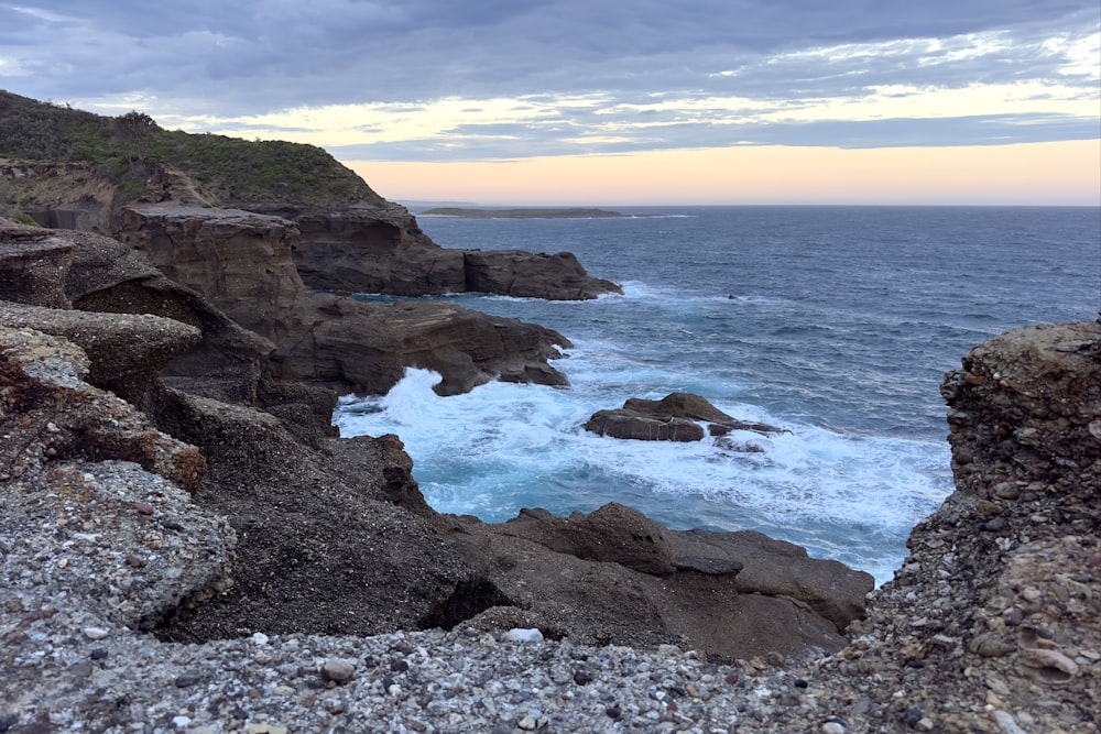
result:
[[[891,579],[911,528],[952,490],[945,372],[1026,324],[1101,307],[1088,207],[645,207],[613,219],[418,218],[445,248],[574,252],[622,296],[460,294],[556,329],[568,388],[490,383],[439,397],[408,370],[346,397],[345,436],[397,434],[437,511],[489,522],[619,502],[672,528],[753,529]],[[388,300],[362,294],[367,300]],[[629,397],[701,395],[789,432],[753,451],[601,438]]]

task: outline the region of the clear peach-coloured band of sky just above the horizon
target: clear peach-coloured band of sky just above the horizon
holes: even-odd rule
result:
[[[1101,206],[1099,140],[861,150],[774,145],[345,164],[395,201]]]

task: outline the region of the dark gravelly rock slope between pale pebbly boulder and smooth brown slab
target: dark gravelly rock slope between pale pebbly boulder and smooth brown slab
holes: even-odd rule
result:
[[[233,587],[179,610],[165,638],[416,629],[475,583],[424,517],[400,441],[330,438],[314,449],[266,412],[171,397],[162,420],[208,460],[196,502],[228,517],[239,540]]]

